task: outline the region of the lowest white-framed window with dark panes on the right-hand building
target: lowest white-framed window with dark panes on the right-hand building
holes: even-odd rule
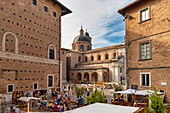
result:
[[[150,73],[141,73],[140,74],[141,86],[150,86],[150,82],[151,82],[150,79],[151,79]]]

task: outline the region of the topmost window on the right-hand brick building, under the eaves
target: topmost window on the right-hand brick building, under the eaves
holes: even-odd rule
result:
[[[140,22],[143,22],[148,19],[149,19],[149,8],[140,11]]]

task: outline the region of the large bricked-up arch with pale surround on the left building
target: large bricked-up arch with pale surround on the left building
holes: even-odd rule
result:
[[[2,38],[2,51],[18,53],[18,38],[14,33],[4,33]]]

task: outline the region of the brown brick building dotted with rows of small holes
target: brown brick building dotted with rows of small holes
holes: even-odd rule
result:
[[[59,87],[61,16],[57,0],[0,1],[0,94]]]

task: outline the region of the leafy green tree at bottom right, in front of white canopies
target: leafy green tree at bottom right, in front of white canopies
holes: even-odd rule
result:
[[[151,103],[148,105],[146,110],[147,113],[164,113],[165,106],[163,103],[163,99],[160,95],[158,95],[156,88],[153,87],[154,92],[147,97],[150,99]]]

